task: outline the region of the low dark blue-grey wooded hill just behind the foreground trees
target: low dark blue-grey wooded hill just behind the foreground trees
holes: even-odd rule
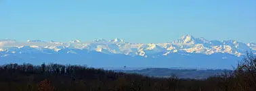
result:
[[[116,72],[125,73],[138,73],[141,75],[148,75],[154,77],[170,77],[173,73],[179,78],[192,78],[192,79],[206,79],[210,76],[219,75],[224,73],[225,69],[167,69],[167,68],[146,68],[146,69],[133,69],[133,70],[122,70],[115,69]]]

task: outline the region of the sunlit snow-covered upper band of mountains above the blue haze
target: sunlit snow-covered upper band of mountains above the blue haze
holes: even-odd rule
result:
[[[77,43],[72,43],[77,42]],[[244,55],[246,51],[256,53],[256,44],[238,42],[236,40],[207,40],[205,38],[194,38],[191,35],[182,36],[174,42],[145,44],[145,43],[129,43],[121,38],[114,38],[106,41],[104,39],[95,39],[93,42],[83,42],[73,40],[70,42],[43,42],[42,40],[28,40],[27,42],[13,42],[6,39],[0,41],[1,50],[8,49],[7,47],[27,46],[37,49],[48,49],[52,51],[60,51],[62,49],[81,49],[89,51],[98,51],[102,53],[120,53],[125,55],[141,55],[141,56],[156,56],[167,55],[168,53],[200,53],[211,55],[215,53],[229,53],[231,55]],[[24,49],[24,48],[23,48]],[[24,49],[26,50],[26,49]],[[79,52],[78,52],[79,53]],[[165,54],[166,53],[166,54]]]

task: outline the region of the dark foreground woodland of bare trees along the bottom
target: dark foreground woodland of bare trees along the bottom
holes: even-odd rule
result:
[[[81,65],[0,67],[1,91],[256,91],[256,58],[249,54],[233,72],[204,80],[152,78]]]

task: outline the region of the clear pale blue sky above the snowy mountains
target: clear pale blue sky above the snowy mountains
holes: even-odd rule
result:
[[[0,38],[256,42],[256,0],[0,0]]]

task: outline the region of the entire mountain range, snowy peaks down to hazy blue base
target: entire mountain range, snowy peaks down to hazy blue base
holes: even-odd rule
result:
[[[89,42],[0,40],[0,63],[70,63],[92,67],[203,67],[232,69],[256,43],[185,35],[173,42],[132,43],[121,38]]]

